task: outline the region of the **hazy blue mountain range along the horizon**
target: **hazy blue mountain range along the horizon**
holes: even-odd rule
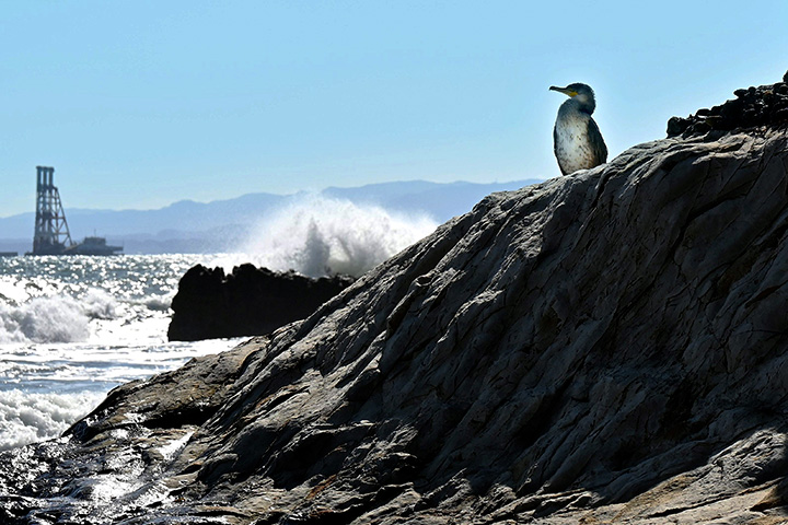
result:
[[[470,211],[494,191],[518,189],[538,182],[440,184],[410,180],[329,187],[314,195],[378,206],[390,212],[427,214],[442,223]],[[123,245],[126,254],[225,252],[237,246],[254,223],[310,195],[313,194],[246,194],[211,202],[181,200],[158,210],[66,208],[66,218],[73,241],[96,234],[107,237],[109,244]],[[0,218],[0,252],[30,250],[34,223],[34,212]]]

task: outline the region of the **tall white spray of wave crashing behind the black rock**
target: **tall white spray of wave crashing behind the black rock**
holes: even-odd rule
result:
[[[408,217],[375,206],[310,196],[262,219],[240,252],[273,270],[358,277],[437,225],[427,215]]]

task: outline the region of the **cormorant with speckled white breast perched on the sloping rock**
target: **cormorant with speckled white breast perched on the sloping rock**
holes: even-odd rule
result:
[[[591,114],[596,107],[590,85],[575,82],[566,88],[551,86],[569,96],[558,108],[553,128],[553,151],[564,175],[589,170],[607,162],[607,147]]]

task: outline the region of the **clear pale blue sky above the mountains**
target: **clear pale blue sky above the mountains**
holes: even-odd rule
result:
[[[614,158],[788,70],[788,2],[0,0],[0,217],[559,175],[586,82]]]

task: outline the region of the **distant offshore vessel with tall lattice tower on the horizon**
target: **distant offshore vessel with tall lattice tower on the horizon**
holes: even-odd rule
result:
[[[71,241],[60,192],[55,186],[55,168],[36,166],[36,223],[33,252],[26,255],[115,255],[121,246],[109,246],[104,237]]]

